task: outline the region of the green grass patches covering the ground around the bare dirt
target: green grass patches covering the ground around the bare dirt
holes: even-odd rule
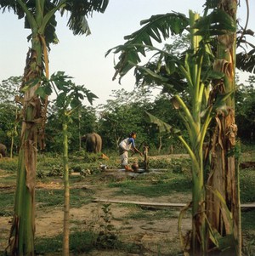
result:
[[[87,156],[86,156],[87,157]],[[254,161],[254,151],[249,151],[242,161]],[[107,177],[100,175],[99,163],[100,160],[93,156],[91,159],[82,156],[73,156],[70,159],[70,169],[75,172],[81,172],[82,169],[91,169],[92,175],[81,179],[80,176],[70,176],[71,184],[71,208],[80,208],[84,204],[91,202],[94,196],[94,189],[88,189],[85,184],[107,185],[109,188],[116,188],[114,196],[144,196],[146,198],[153,198],[157,196],[175,196],[173,198],[178,200],[177,195],[190,196],[191,180],[190,180],[190,160],[189,159],[171,159],[162,161],[150,161],[150,168],[161,168],[160,172],[150,172],[150,174],[140,174],[136,177],[129,177],[127,179],[113,179],[111,176]],[[105,162],[103,162],[105,164]],[[115,167],[116,161],[106,163],[109,167]],[[64,203],[63,186],[59,189],[49,185],[52,182],[62,185],[62,178],[60,176],[48,177],[47,174],[52,170],[61,168],[61,158],[59,156],[38,156],[38,170],[42,170],[44,178],[37,179],[45,187],[40,186],[36,190],[37,207],[44,209],[55,207],[62,207]],[[16,182],[16,167],[17,158],[0,160],[0,216],[12,216],[14,208],[14,185]],[[165,169],[165,170],[163,170]],[[3,171],[4,170],[4,171]],[[255,172],[254,169],[241,169],[241,202],[255,202]],[[48,186],[47,186],[48,185]],[[127,204],[119,205],[118,207],[132,208],[132,211],[125,215],[122,221],[146,220],[148,223],[153,223],[158,219],[177,219],[179,208],[144,208],[138,206],[127,206]],[[244,255],[253,255],[255,253],[255,223],[254,210],[243,211],[241,213],[241,228],[244,233]],[[78,222],[77,222],[78,225]],[[88,253],[95,247],[95,241],[99,232],[87,230],[72,229],[70,236],[70,248],[74,255],[79,253]],[[143,248],[139,244],[126,243],[116,244],[122,251],[129,253],[140,253]],[[62,237],[54,236],[50,238],[36,239],[36,251],[38,254],[44,253],[59,253],[62,249]],[[160,248],[159,248],[160,251]],[[253,254],[252,254],[253,253]],[[54,254],[52,254],[54,255]],[[158,254],[160,255],[160,253]],[[171,254],[172,255],[172,254]]]

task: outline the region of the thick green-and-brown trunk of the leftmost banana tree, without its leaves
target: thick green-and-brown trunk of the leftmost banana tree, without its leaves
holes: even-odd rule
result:
[[[27,54],[22,88],[42,74],[42,45],[37,39],[33,38]],[[39,85],[26,88],[24,95],[14,218],[8,241],[11,255],[34,255],[37,135],[42,122],[41,102],[35,94]]]

